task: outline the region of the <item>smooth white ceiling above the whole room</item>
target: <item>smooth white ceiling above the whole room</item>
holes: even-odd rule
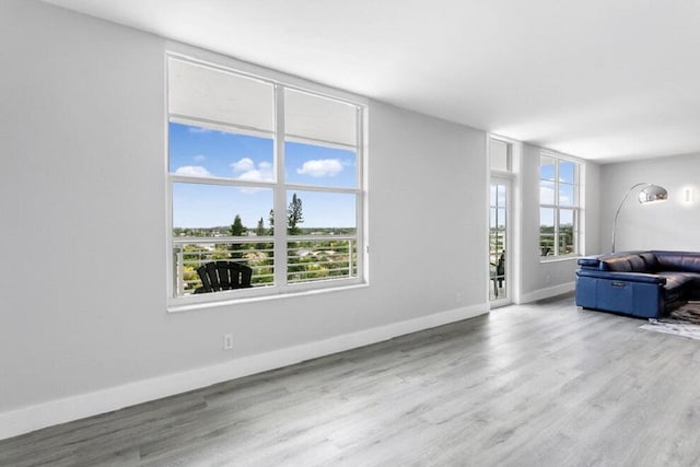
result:
[[[697,0],[45,0],[598,162],[700,152]]]

